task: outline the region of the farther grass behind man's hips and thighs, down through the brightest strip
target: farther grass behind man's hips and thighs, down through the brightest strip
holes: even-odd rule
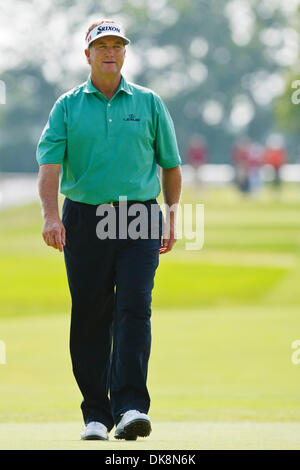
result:
[[[186,191],[182,204],[205,207],[202,250],[186,251],[186,239],[161,257],[154,308],[257,304],[299,273],[300,222],[297,193],[281,201],[244,199],[231,189]],[[296,202],[295,202],[296,201]],[[2,316],[69,309],[63,255],[41,236],[38,204],[0,212],[0,306]],[[17,286],[17,288],[16,288]],[[53,293],[55,292],[55,295]],[[172,295],[170,295],[172,292]],[[298,292],[289,303],[300,304]]]

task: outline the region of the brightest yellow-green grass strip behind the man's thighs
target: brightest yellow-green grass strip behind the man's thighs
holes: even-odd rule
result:
[[[1,264],[2,317],[70,309],[63,255],[5,255]],[[187,263],[165,257],[155,279],[153,308],[256,304],[288,273],[286,267]]]

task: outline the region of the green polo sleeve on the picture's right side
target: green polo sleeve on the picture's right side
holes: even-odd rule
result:
[[[162,168],[181,164],[175,128],[170,113],[158,95],[154,95],[156,112],[155,158]]]

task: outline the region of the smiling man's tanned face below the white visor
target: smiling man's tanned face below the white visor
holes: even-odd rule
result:
[[[106,76],[120,73],[126,49],[121,38],[105,36],[94,41],[85,50],[91,69]]]

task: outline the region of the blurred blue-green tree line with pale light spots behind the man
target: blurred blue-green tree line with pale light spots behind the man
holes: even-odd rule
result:
[[[229,162],[235,140],[264,144],[287,125],[287,80],[299,57],[298,0],[15,0],[0,4],[0,171],[36,171],[36,145],[54,101],[85,81],[83,48],[95,19],[122,21],[132,40],[124,76],[150,87],[173,117],[186,159],[194,134],[212,163]],[[127,68],[126,68],[127,67]],[[300,97],[300,95],[299,95]],[[287,106],[288,101],[288,106]],[[278,104],[279,103],[279,104]],[[299,106],[292,108],[299,113]]]

